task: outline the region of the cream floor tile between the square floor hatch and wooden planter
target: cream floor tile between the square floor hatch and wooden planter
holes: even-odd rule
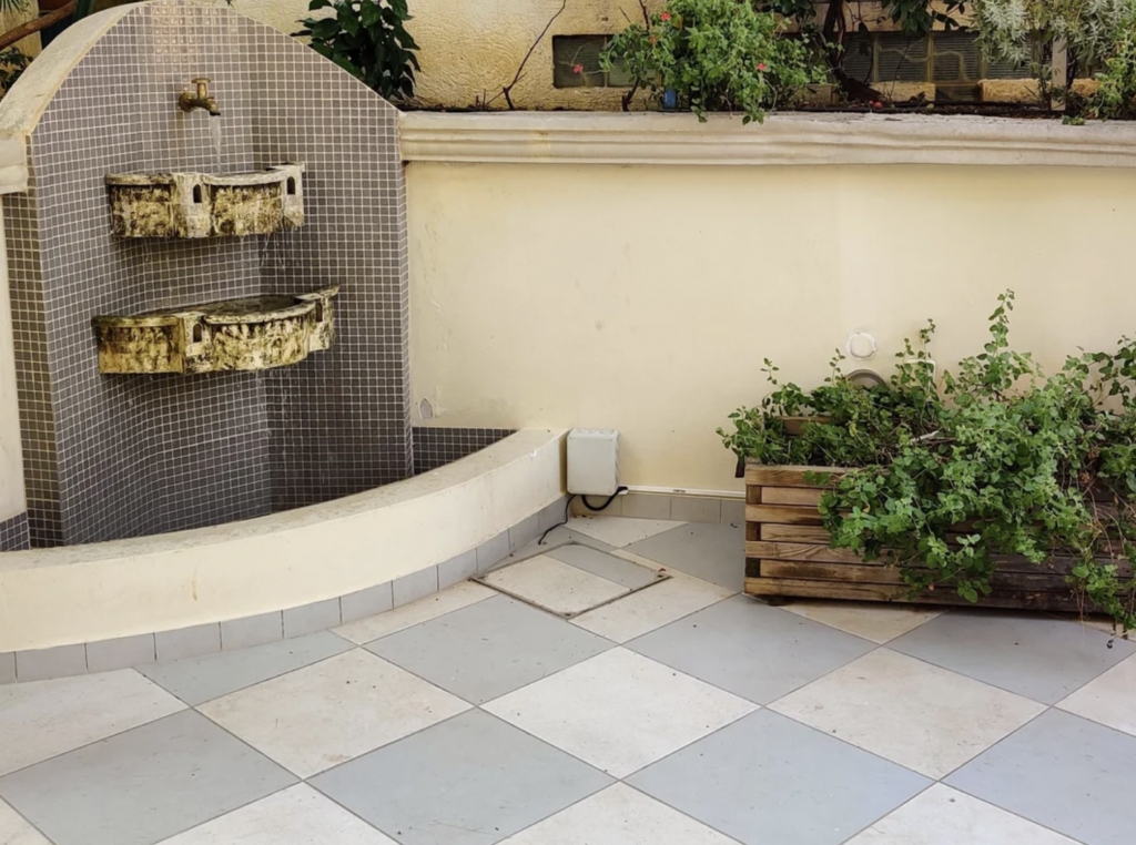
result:
[[[677,571],[669,575],[669,580],[580,613],[571,622],[601,637],[626,643],[732,595],[732,591],[717,584]]]

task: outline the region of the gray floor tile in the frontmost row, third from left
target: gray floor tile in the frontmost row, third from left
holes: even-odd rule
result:
[[[930,784],[768,710],[627,783],[746,845],[837,845]]]

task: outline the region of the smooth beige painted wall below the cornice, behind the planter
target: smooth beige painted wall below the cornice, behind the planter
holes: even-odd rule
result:
[[[933,317],[953,363],[1005,287],[1050,366],[1136,320],[1136,170],[415,162],[408,195],[432,425],[618,428],[630,485],[737,490],[715,428],[766,357],[812,386],[862,331],[886,371]]]

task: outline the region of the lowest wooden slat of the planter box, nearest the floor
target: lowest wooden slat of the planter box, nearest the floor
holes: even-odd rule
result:
[[[869,602],[901,602],[914,604],[971,605],[951,589],[936,589],[933,594],[911,597],[905,585],[842,584],[837,582],[797,580],[791,578],[746,578],[745,593],[754,596],[794,596],[799,599],[844,599]],[[1067,592],[995,591],[983,596],[978,606],[1020,608],[1026,610],[1054,610],[1092,612],[1081,608]]]

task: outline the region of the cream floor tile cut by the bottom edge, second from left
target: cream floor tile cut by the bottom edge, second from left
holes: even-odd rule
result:
[[[0,843],[3,839],[0,838]],[[307,784],[296,784],[159,845],[395,845]]]

